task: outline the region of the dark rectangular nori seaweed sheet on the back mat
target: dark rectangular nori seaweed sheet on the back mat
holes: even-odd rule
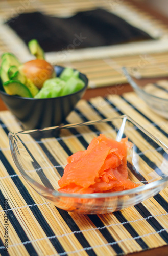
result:
[[[26,44],[36,38],[45,52],[153,39],[104,9],[79,12],[69,18],[22,13],[7,24]]]

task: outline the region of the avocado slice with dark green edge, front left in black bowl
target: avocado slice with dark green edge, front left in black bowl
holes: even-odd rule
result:
[[[10,80],[3,84],[4,90],[10,95],[18,95],[20,97],[32,98],[30,90],[21,82]]]

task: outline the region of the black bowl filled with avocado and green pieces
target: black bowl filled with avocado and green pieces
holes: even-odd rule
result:
[[[61,74],[64,67],[55,66],[57,76]],[[46,99],[23,98],[5,93],[1,86],[0,96],[7,108],[22,123],[25,130],[41,129],[60,125],[65,121],[68,114],[74,109],[76,103],[83,96],[87,86],[87,77],[80,73],[80,79],[85,86],[78,92]]]

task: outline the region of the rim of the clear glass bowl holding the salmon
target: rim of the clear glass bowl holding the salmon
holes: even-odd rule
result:
[[[124,114],[122,116],[118,116],[118,117],[114,117],[114,118],[105,118],[105,119],[99,119],[99,120],[93,120],[93,121],[87,121],[87,122],[81,122],[81,123],[66,124],[66,125],[60,125],[60,126],[54,126],[54,127],[47,127],[47,128],[44,128],[44,129],[21,131],[21,132],[17,132],[17,133],[10,132],[8,134],[8,137],[9,137],[9,145],[10,145],[10,150],[11,150],[13,160],[15,158],[15,155],[14,155],[14,151],[13,151],[13,147],[12,147],[12,141],[13,141],[13,138],[15,137],[15,135],[17,135],[17,134],[28,134],[28,133],[31,134],[31,133],[38,132],[38,131],[41,132],[41,131],[54,130],[54,129],[67,129],[67,128],[70,128],[70,127],[76,127],[76,126],[80,126],[80,125],[83,125],[83,126],[84,125],[89,125],[89,124],[91,125],[91,124],[95,124],[95,123],[99,123],[99,122],[108,122],[108,121],[113,121],[113,120],[116,120],[116,119],[124,119],[124,118],[126,118],[126,120],[129,120],[131,123],[136,125],[141,131],[145,132],[148,136],[153,138],[155,141],[159,142],[159,144],[161,144],[162,147],[164,147],[165,150],[168,151],[168,146],[166,146],[163,142],[161,142],[155,136],[150,134],[141,125],[139,125],[137,122],[135,122],[131,117]],[[19,169],[19,172],[21,173],[23,178],[28,180],[27,182],[29,183],[29,185],[31,185],[31,186],[34,185],[35,187],[38,187],[44,193],[47,193],[47,194],[50,194],[50,195],[52,194],[55,197],[64,197],[64,198],[67,198],[67,197],[70,198],[71,197],[71,198],[98,199],[98,198],[112,198],[112,197],[117,197],[117,196],[129,196],[131,194],[135,194],[135,193],[137,194],[139,192],[149,190],[151,188],[154,188],[154,187],[168,181],[168,175],[167,175],[166,177],[162,178],[161,180],[157,180],[157,181],[145,184],[144,186],[139,186],[139,187],[136,187],[136,188],[133,188],[133,189],[123,190],[123,191],[119,191],[119,192],[92,193],[92,194],[75,194],[75,193],[71,194],[71,193],[69,193],[68,194],[68,193],[60,193],[60,192],[56,191],[55,189],[47,188],[47,187],[44,187],[43,185],[40,185],[38,182],[33,180],[29,175],[27,175],[24,170],[19,168],[19,166],[17,166],[17,168]]]

